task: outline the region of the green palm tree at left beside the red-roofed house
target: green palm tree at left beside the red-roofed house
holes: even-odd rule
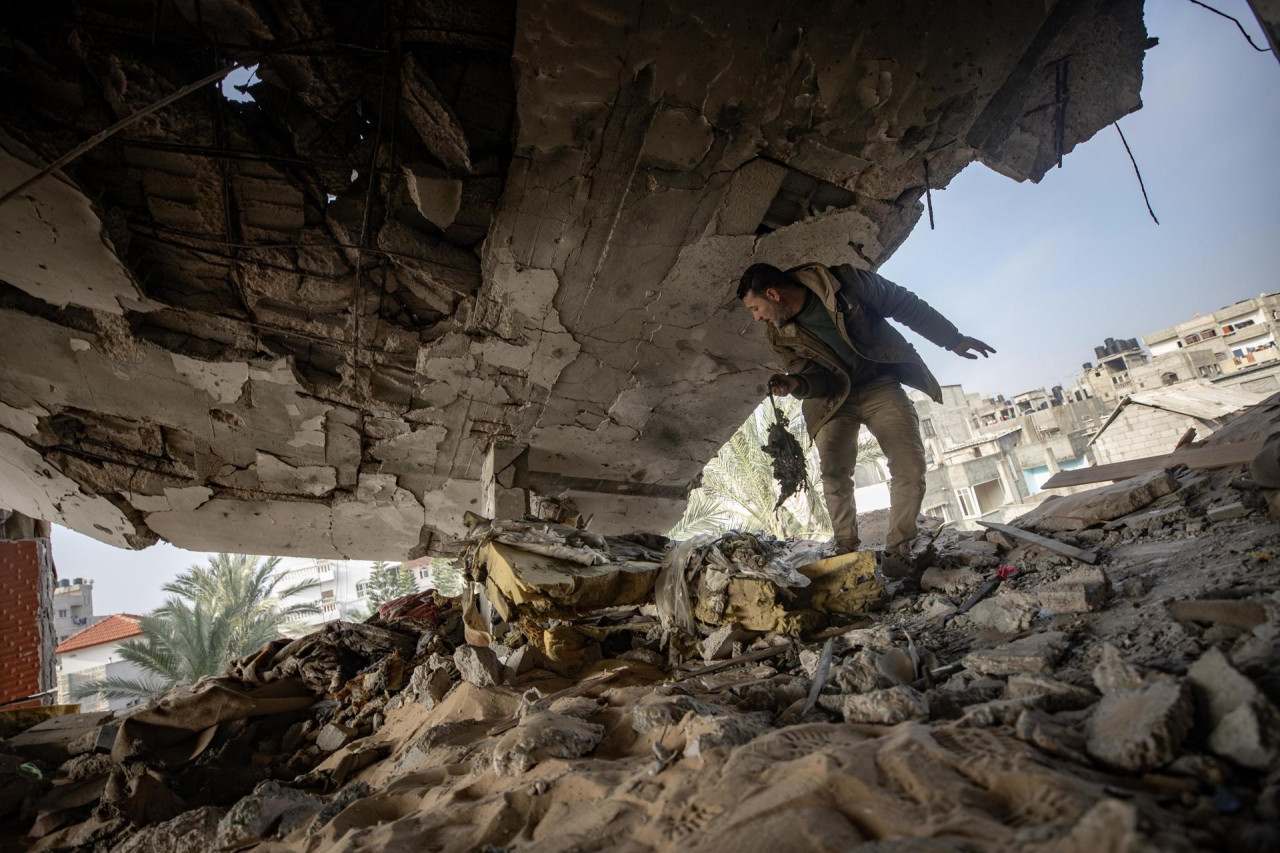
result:
[[[119,646],[120,658],[137,665],[143,675],[87,683],[76,698],[97,693],[111,699],[150,697],[193,684],[279,637],[292,617],[319,612],[315,605],[284,603],[319,581],[280,588],[284,575],[275,574],[279,561],[219,553],[209,557],[207,565],[187,569],[163,587],[169,593],[165,603],[142,617],[141,639]]]

